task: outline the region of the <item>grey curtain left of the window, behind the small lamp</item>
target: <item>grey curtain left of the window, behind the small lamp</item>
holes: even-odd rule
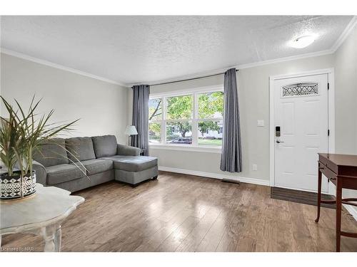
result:
[[[131,146],[144,150],[149,156],[149,85],[134,85],[133,87],[133,125],[138,135],[131,136]]]

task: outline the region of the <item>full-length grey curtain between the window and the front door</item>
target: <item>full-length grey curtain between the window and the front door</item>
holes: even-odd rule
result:
[[[224,115],[221,170],[242,171],[241,125],[239,122],[236,69],[224,73]]]

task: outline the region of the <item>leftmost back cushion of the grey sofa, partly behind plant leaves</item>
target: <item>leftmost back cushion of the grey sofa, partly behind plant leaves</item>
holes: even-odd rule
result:
[[[68,164],[67,152],[63,138],[52,138],[41,143],[39,151],[34,153],[33,159],[44,167]]]

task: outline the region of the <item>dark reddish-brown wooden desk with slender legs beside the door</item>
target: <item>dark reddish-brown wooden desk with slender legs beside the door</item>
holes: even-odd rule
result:
[[[336,185],[336,200],[321,199],[321,180],[324,174],[333,184]],[[356,237],[357,233],[341,231],[341,206],[348,204],[357,206],[357,198],[342,198],[342,189],[357,190],[357,155],[341,155],[318,153],[318,200],[317,200],[317,218],[320,219],[321,203],[336,204],[336,251],[340,251],[341,236]]]

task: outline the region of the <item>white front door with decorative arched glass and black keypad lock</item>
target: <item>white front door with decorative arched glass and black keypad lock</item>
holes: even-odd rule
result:
[[[274,185],[317,191],[317,153],[328,152],[328,75],[274,80],[273,89]]]

